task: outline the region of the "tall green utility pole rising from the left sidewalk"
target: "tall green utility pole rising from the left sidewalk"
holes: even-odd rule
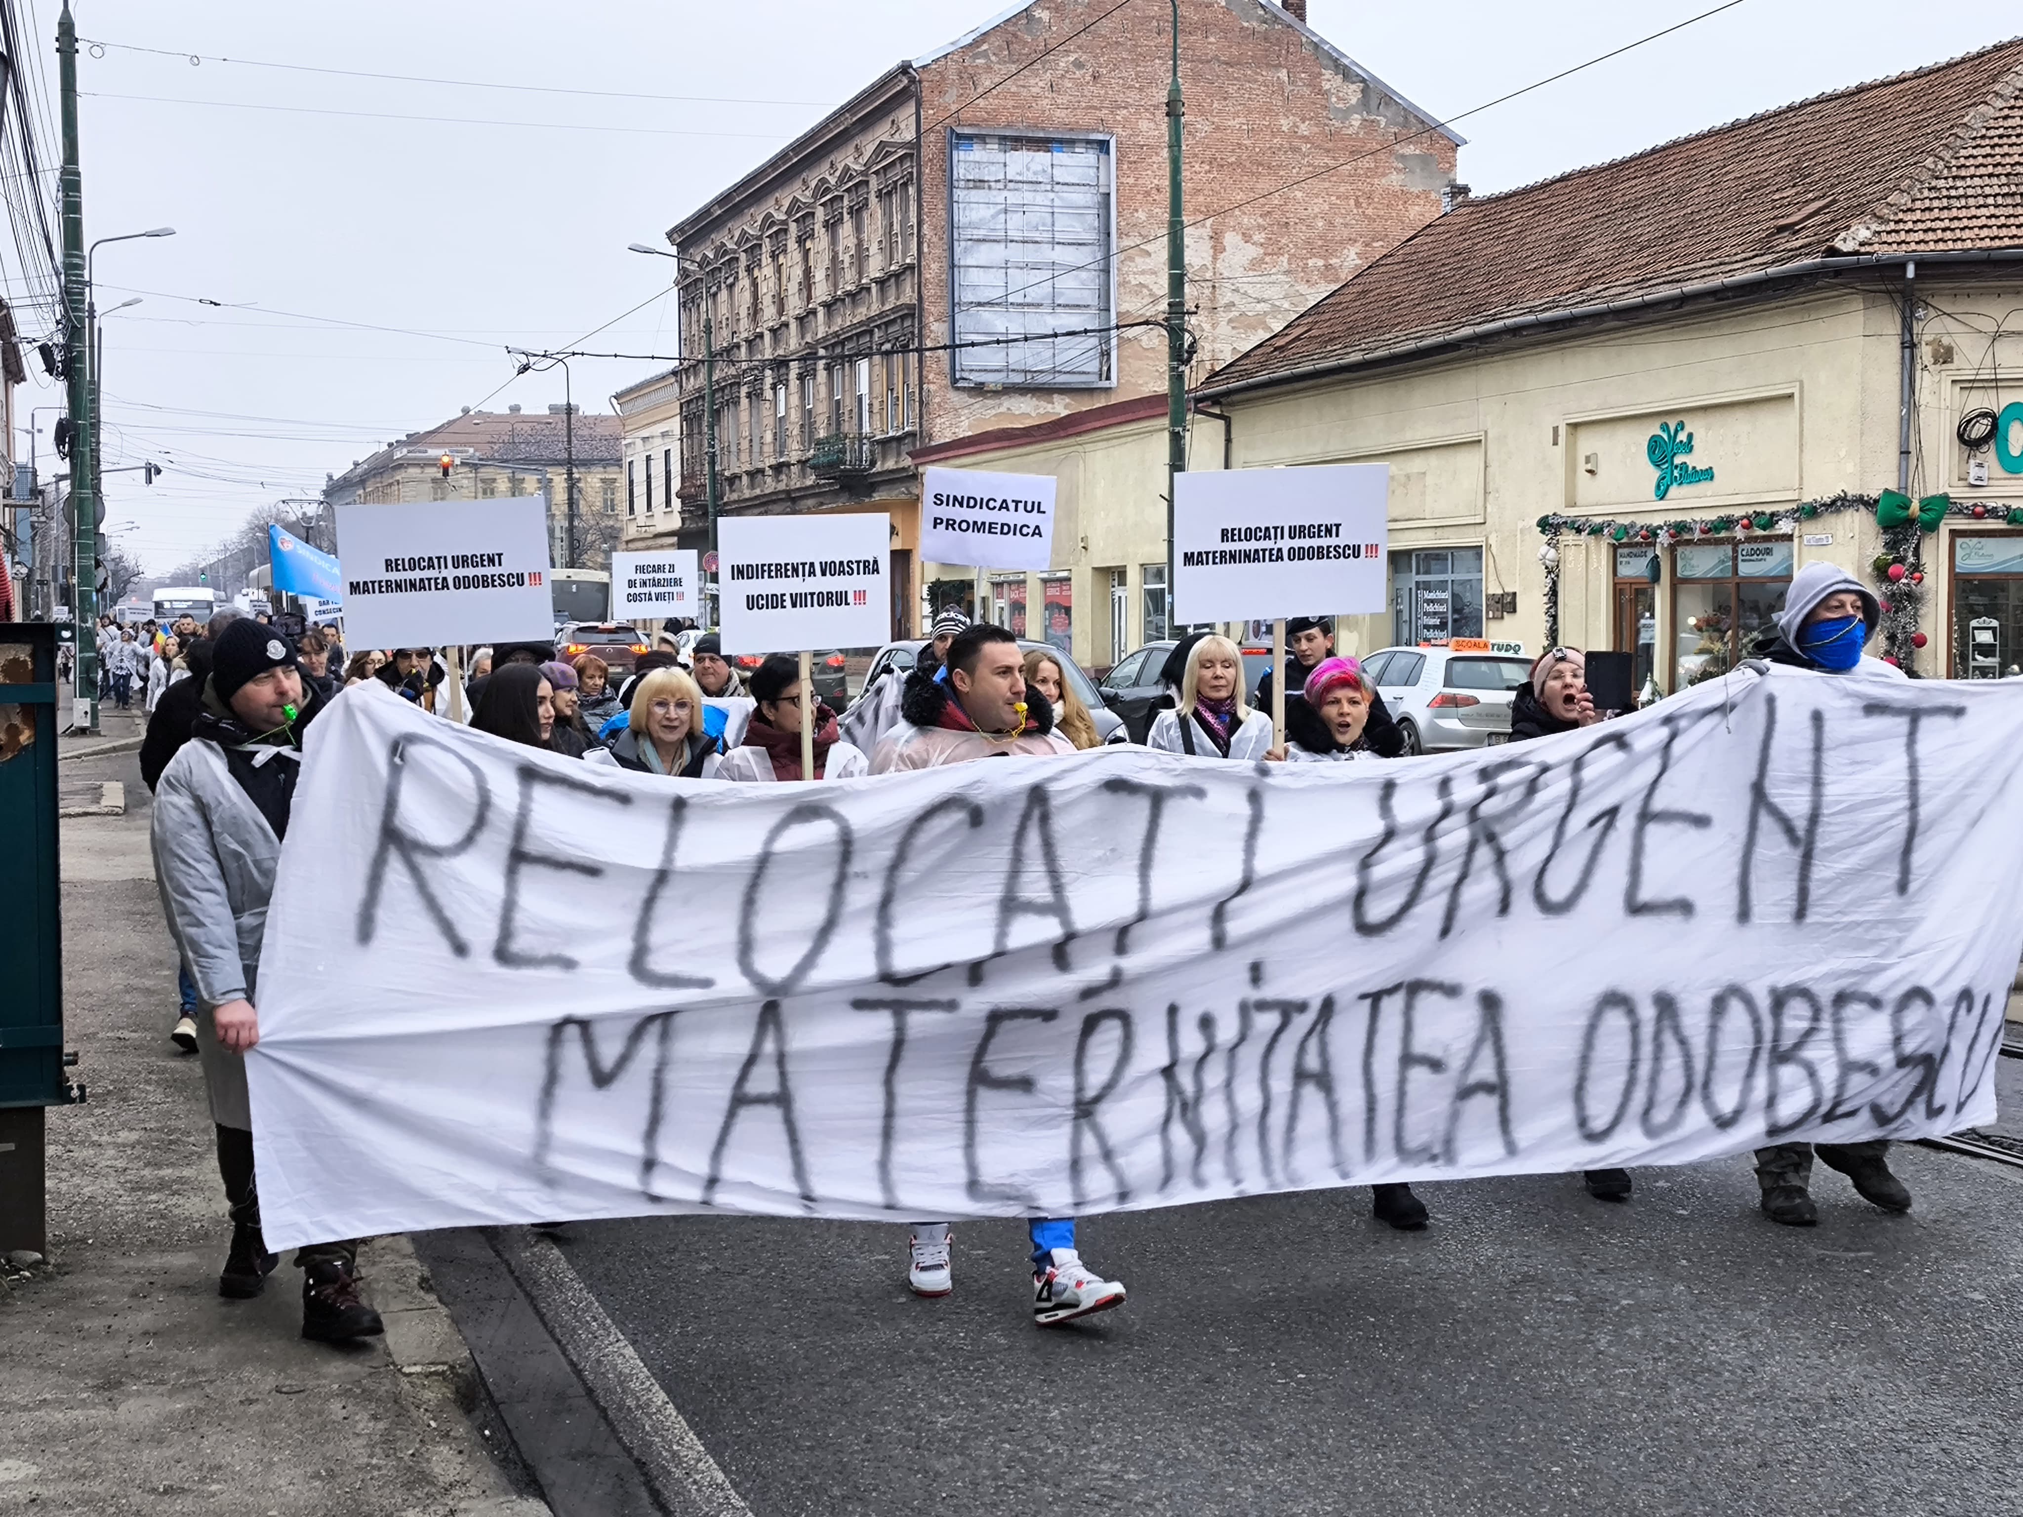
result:
[[[71,403],[71,530],[77,585],[77,684],[71,726],[99,730],[99,494],[97,417],[91,415],[91,344],[85,320],[85,182],[77,164],[77,22],[71,6],[57,16],[57,91],[63,103],[63,374]]]

